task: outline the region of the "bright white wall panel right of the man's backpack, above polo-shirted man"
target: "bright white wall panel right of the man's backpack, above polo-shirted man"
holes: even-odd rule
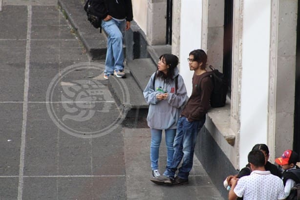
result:
[[[243,5],[240,166],[247,164],[255,144],[267,144],[268,135],[271,2],[257,3],[245,0]]]

